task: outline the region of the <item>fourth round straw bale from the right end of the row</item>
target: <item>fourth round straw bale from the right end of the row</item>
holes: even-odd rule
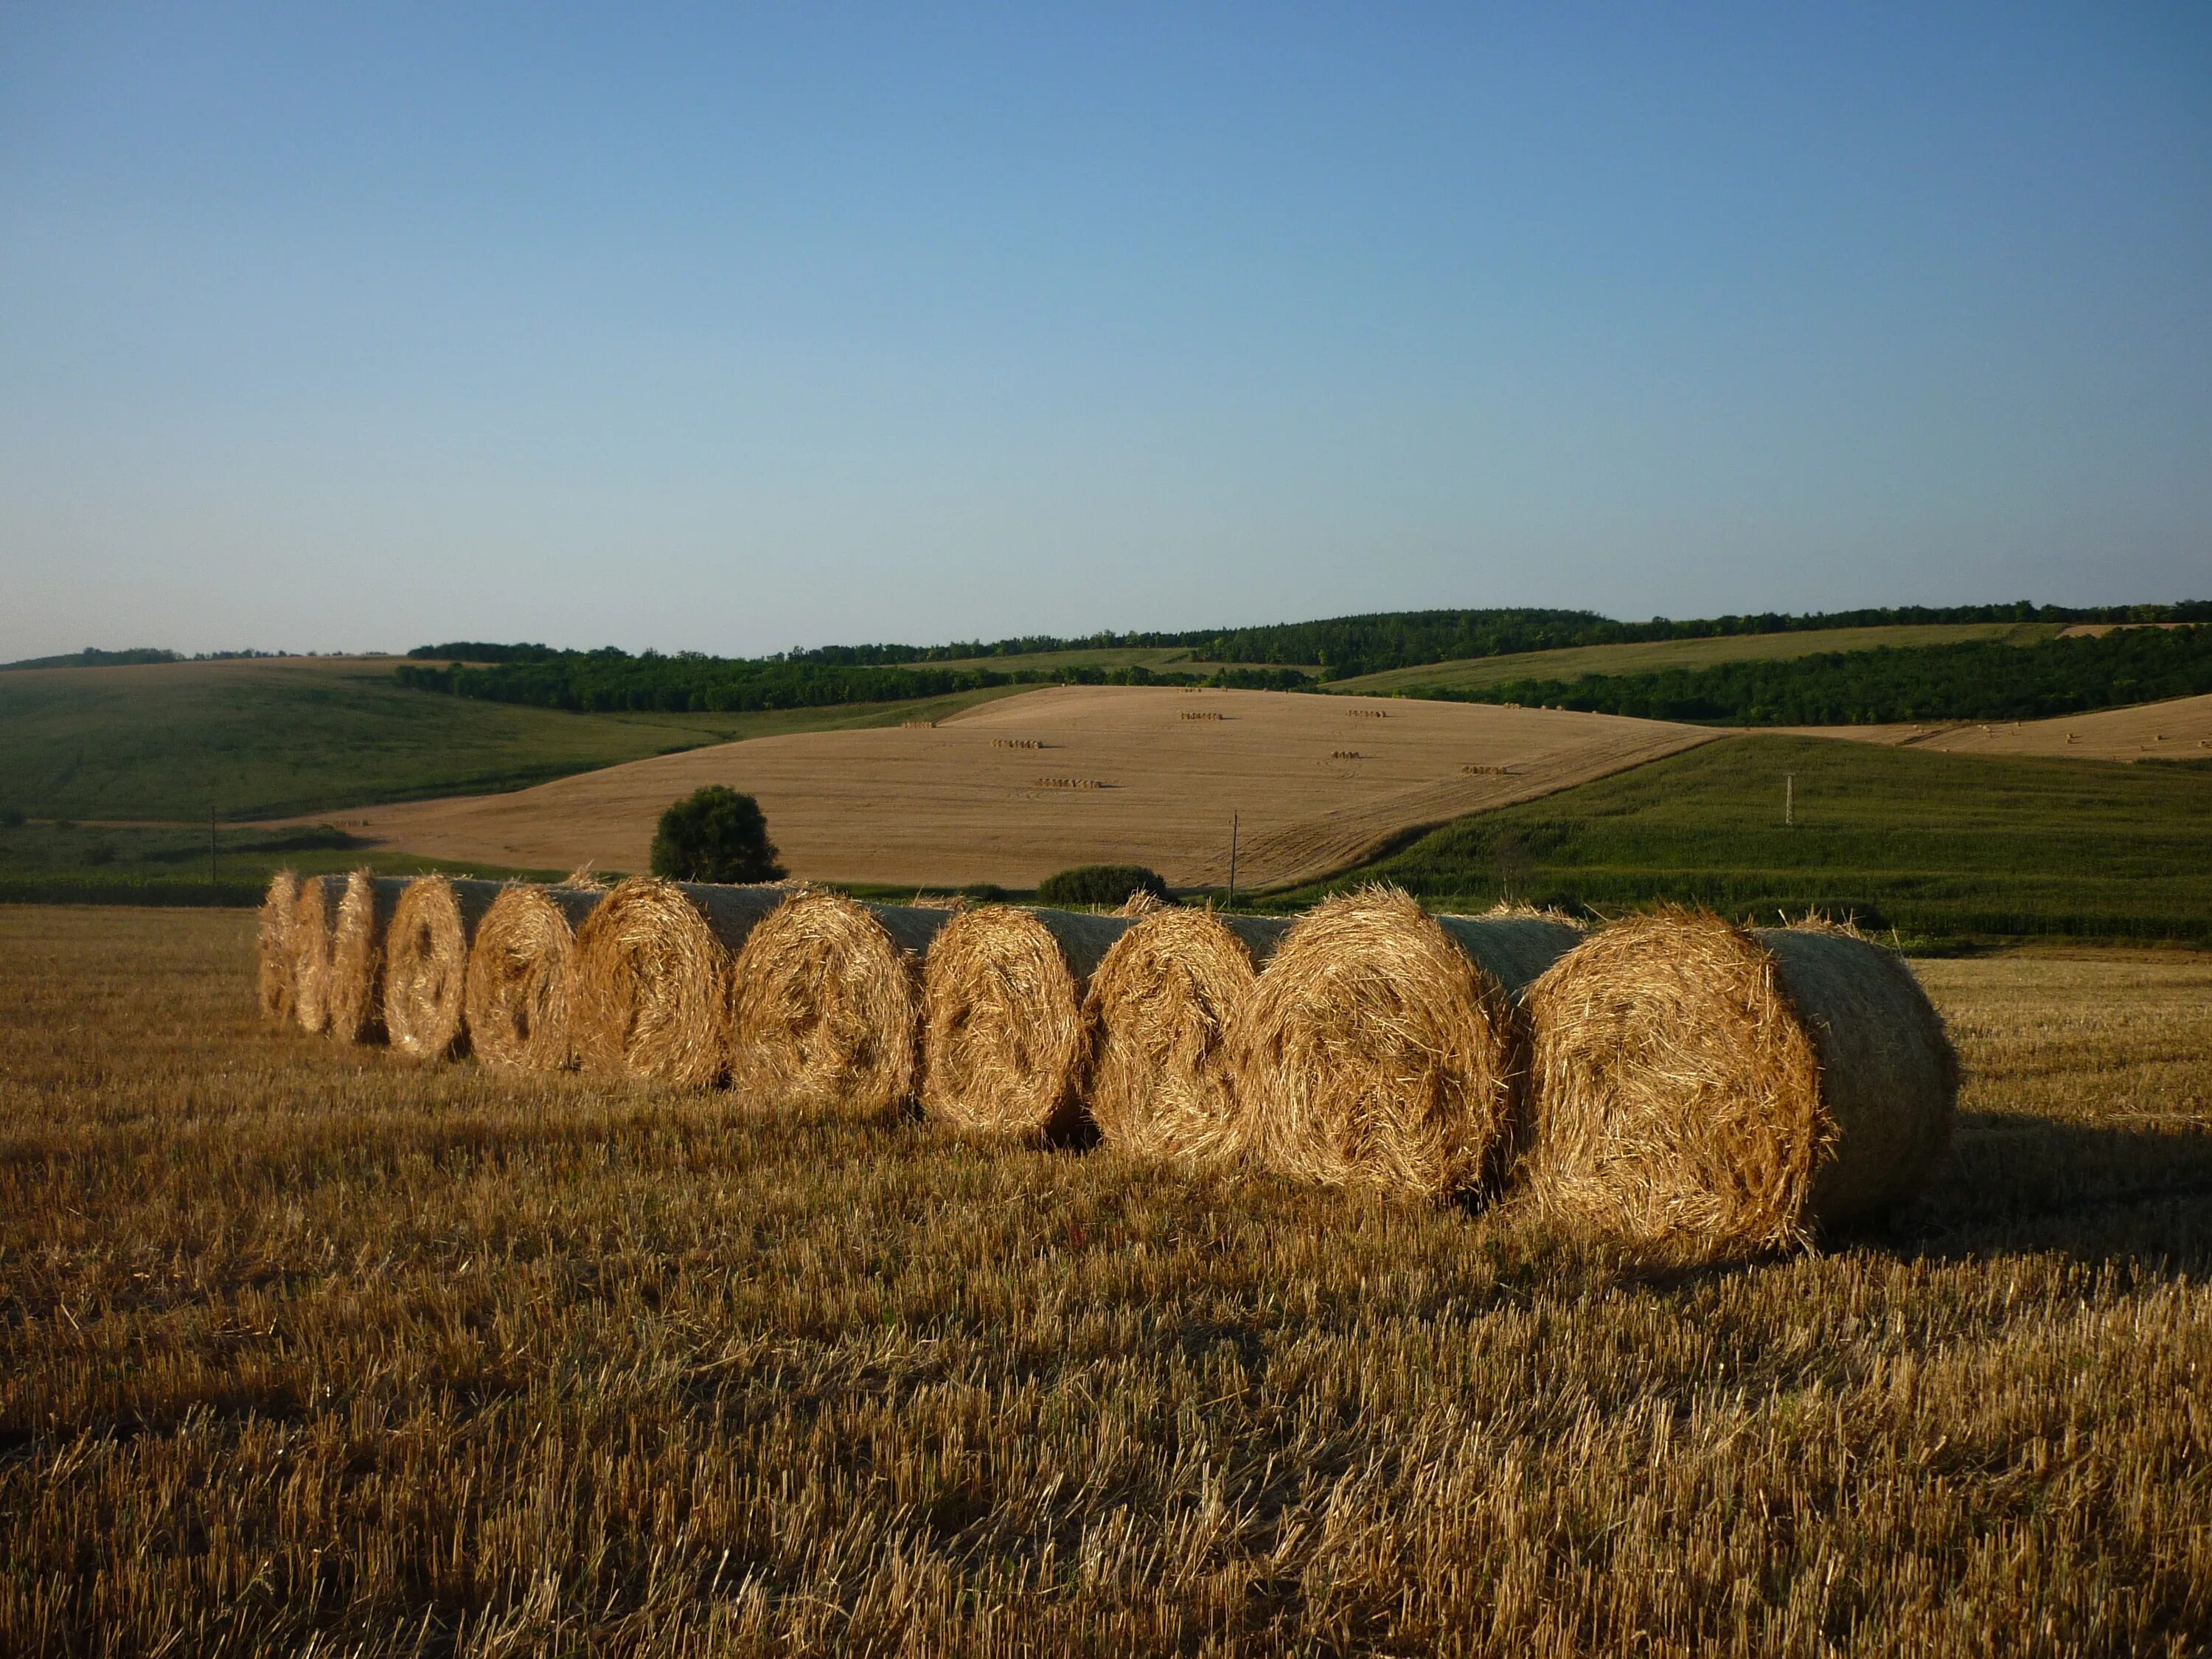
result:
[[[1130,922],[978,905],[922,964],[922,1110],[964,1135],[1057,1139],[1082,1121],[1084,982]]]

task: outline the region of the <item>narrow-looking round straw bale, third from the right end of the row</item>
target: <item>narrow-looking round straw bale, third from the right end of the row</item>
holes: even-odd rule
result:
[[[1228,1033],[1290,920],[1155,907],[1091,975],[1091,1117],[1106,1146],[1166,1164],[1241,1150]]]

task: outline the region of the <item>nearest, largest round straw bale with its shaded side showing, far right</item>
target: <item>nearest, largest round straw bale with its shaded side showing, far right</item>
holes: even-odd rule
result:
[[[1902,958],[1834,927],[1615,922],[1531,991],[1537,1206],[1697,1259],[1922,1186],[1958,1055]]]

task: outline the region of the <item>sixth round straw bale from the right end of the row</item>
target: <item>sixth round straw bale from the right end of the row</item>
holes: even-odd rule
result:
[[[681,1088],[728,1075],[730,960],[790,887],[630,876],[575,933],[580,1064]]]

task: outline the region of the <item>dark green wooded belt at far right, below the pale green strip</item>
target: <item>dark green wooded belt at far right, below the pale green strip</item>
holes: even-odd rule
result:
[[[2035,646],[1971,641],[1829,650],[1787,661],[1663,668],[1646,675],[1511,679],[1422,690],[1462,703],[1577,708],[1719,726],[1876,726],[2015,721],[2212,692],[2212,628],[2119,628]]]

